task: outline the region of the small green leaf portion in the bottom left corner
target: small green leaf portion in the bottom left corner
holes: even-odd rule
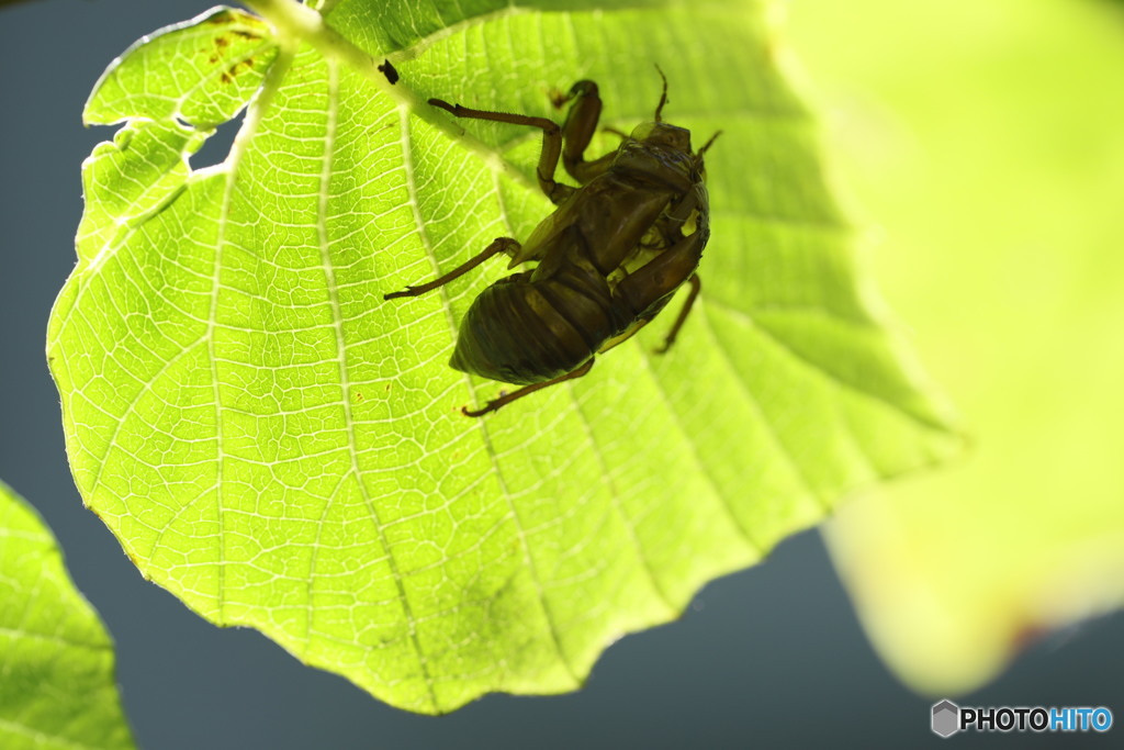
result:
[[[132,748],[114,643],[54,536],[0,482],[0,747]]]

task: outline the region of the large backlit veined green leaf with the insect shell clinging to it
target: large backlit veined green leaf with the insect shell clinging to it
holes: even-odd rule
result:
[[[569,690],[841,495],[955,449],[859,292],[765,7],[253,4],[270,25],[166,29],[94,90],[87,120],[126,125],[87,162],[49,332],[87,503],[207,618],[413,711]],[[592,78],[627,129],[655,63],[665,116],[725,133],[699,308],[668,355],[659,320],[572,386],[461,416],[501,388],[446,362],[504,264],[382,296],[551,207],[536,134],[425,100],[556,116],[549,92]],[[229,156],[185,166],[245,102]]]

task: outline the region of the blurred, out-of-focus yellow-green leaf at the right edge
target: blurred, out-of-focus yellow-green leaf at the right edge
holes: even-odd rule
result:
[[[1124,600],[1124,27],[1073,0],[797,8],[879,275],[973,435],[828,540],[882,654],[959,693]]]

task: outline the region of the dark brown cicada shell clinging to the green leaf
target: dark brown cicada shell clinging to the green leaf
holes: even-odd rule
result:
[[[538,184],[558,206],[526,242],[498,237],[448,273],[384,297],[424,295],[499,253],[511,259],[509,269],[537,261],[534,269],[484,289],[461,323],[450,365],[523,386],[481,409],[465,407],[468,416],[584,376],[597,354],[640,331],[688,282],[687,301],[659,350],[665,352],[701,288],[696,269],[710,236],[703,154],[718,134],[692,152],[690,132],[663,121],[664,78],[654,120],[631,135],[618,133],[623,141],[616,151],[586,161],[601,114],[597,84],[578,81],[568,94],[554,98],[556,107],[568,101],[573,105],[559,127],[543,117],[429,100],[455,117],[541,128]],[[554,180],[560,157],[580,188]]]

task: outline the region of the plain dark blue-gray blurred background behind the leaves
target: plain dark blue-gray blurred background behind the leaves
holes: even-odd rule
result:
[[[878,661],[815,533],[711,584],[681,621],[618,642],[580,693],[489,696],[439,719],[390,708],[256,632],[214,627],[142,580],[72,484],[44,331],[74,263],[81,161],[111,136],[81,125],[90,88],[133,40],[210,4],[0,9],[0,477],[45,516],[116,639],[143,748],[1120,747],[1124,726],[1107,737],[931,734],[932,701]],[[196,163],[220,159],[228,137]],[[1055,634],[960,702],[1107,705],[1120,724],[1122,635],[1120,615]]]

